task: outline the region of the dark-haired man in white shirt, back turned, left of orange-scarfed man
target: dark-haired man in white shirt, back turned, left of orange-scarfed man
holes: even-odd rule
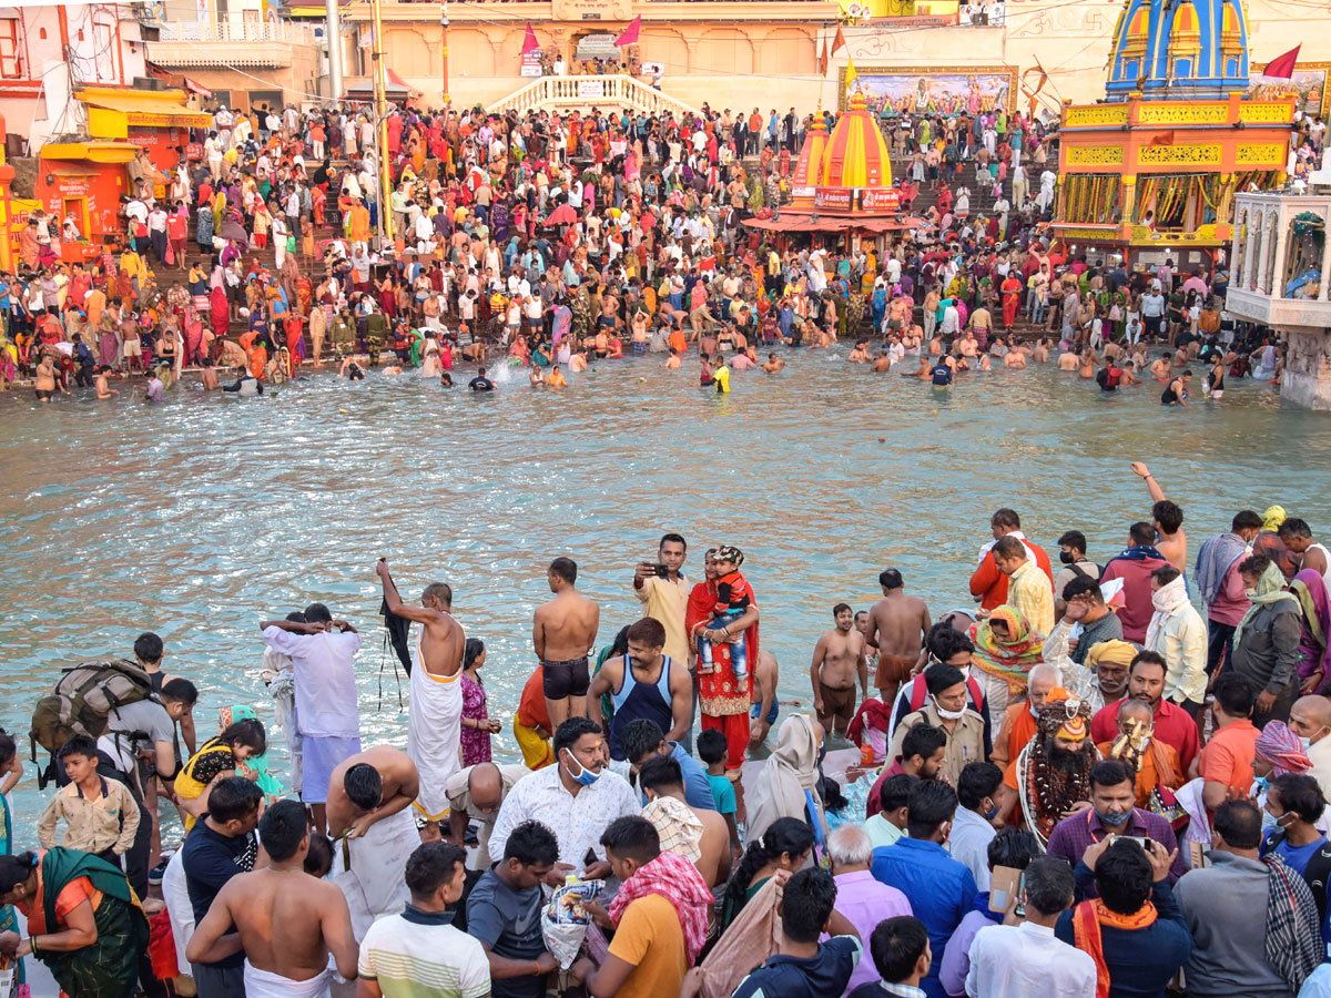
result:
[[[1073,872],[1058,858],[1033,860],[1021,892],[1026,921],[990,925],[970,943],[969,998],[1094,998],[1095,961],[1054,938],[1073,904]]]

